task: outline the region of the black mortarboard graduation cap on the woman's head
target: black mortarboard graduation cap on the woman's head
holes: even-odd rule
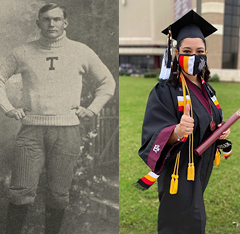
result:
[[[193,10],[164,29],[162,33],[168,35],[169,29],[172,32],[172,38],[177,42],[184,38],[201,38],[205,41],[207,36],[217,31],[215,27]]]

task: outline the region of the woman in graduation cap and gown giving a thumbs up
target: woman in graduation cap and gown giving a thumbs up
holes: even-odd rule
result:
[[[201,156],[194,149],[222,122],[215,91],[207,83],[205,37],[215,31],[194,11],[163,31],[177,40],[176,56],[170,78],[160,79],[149,95],[139,150],[159,175],[159,234],[205,233],[203,193],[217,146],[212,144]]]

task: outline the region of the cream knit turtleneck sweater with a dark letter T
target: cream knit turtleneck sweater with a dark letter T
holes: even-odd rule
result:
[[[22,124],[46,126],[78,125],[72,106],[80,105],[82,76],[88,73],[99,86],[88,107],[98,113],[112,96],[115,81],[98,56],[86,45],[69,40],[66,33],[57,39],[41,37],[14,49],[0,67],[0,107],[7,113],[9,102],[5,82],[20,73],[23,106],[29,108]]]

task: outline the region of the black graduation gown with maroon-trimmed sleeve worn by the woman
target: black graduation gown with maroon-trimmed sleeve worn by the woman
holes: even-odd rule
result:
[[[212,91],[215,93],[213,89]],[[183,114],[178,103],[178,97],[181,96],[183,96],[182,88],[174,88],[167,81],[160,80],[153,88],[146,107],[139,155],[153,172],[160,174],[158,178],[160,200],[158,233],[204,234],[206,214],[203,193],[213,168],[216,143],[212,144],[201,156],[194,154],[195,180],[188,181],[188,139],[174,146],[167,145],[172,131],[180,122]],[[195,149],[212,133],[209,127],[211,116],[191,90],[190,96],[193,107]],[[221,109],[217,109],[211,99],[210,103],[214,121],[218,125],[222,122]],[[178,192],[172,195],[169,193],[170,181],[179,151],[181,155]]]

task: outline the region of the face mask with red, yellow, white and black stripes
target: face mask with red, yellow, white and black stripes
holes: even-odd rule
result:
[[[201,55],[186,55],[179,54],[178,63],[180,67],[189,75],[199,74],[206,64],[207,56],[205,54]]]

